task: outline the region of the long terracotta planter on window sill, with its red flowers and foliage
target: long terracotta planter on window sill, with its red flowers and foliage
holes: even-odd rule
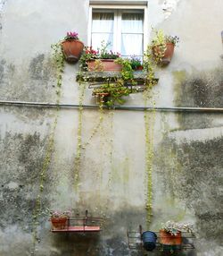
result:
[[[120,54],[107,50],[110,43],[102,41],[101,47],[97,50],[92,47],[85,47],[80,58],[81,68],[85,71],[120,71],[121,65],[114,62]]]

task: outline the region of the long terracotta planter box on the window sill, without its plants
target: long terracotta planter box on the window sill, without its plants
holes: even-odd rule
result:
[[[87,61],[88,71],[121,71],[121,64],[116,64],[115,60],[99,59]]]

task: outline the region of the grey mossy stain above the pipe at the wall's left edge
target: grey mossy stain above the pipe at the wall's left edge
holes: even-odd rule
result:
[[[44,54],[21,66],[2,59],[0,94],[2,100],[48,101],[55,97],[55,70],[52,59]]]

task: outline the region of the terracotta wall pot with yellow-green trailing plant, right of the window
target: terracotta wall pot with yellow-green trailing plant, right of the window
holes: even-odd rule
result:
[[[177,36],[167,36],[163,30],[154,30],[155,37],[149,45],[149,50],[156,64],[169,64],[174,53],[174,47],[178,44]]]

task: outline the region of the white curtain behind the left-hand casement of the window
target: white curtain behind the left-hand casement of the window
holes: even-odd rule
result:
[[[111,43],[107,49],[112,49],[113,24],[114,13],[93,13],[91,45],[94,49],[100,47],[102,41]]]

